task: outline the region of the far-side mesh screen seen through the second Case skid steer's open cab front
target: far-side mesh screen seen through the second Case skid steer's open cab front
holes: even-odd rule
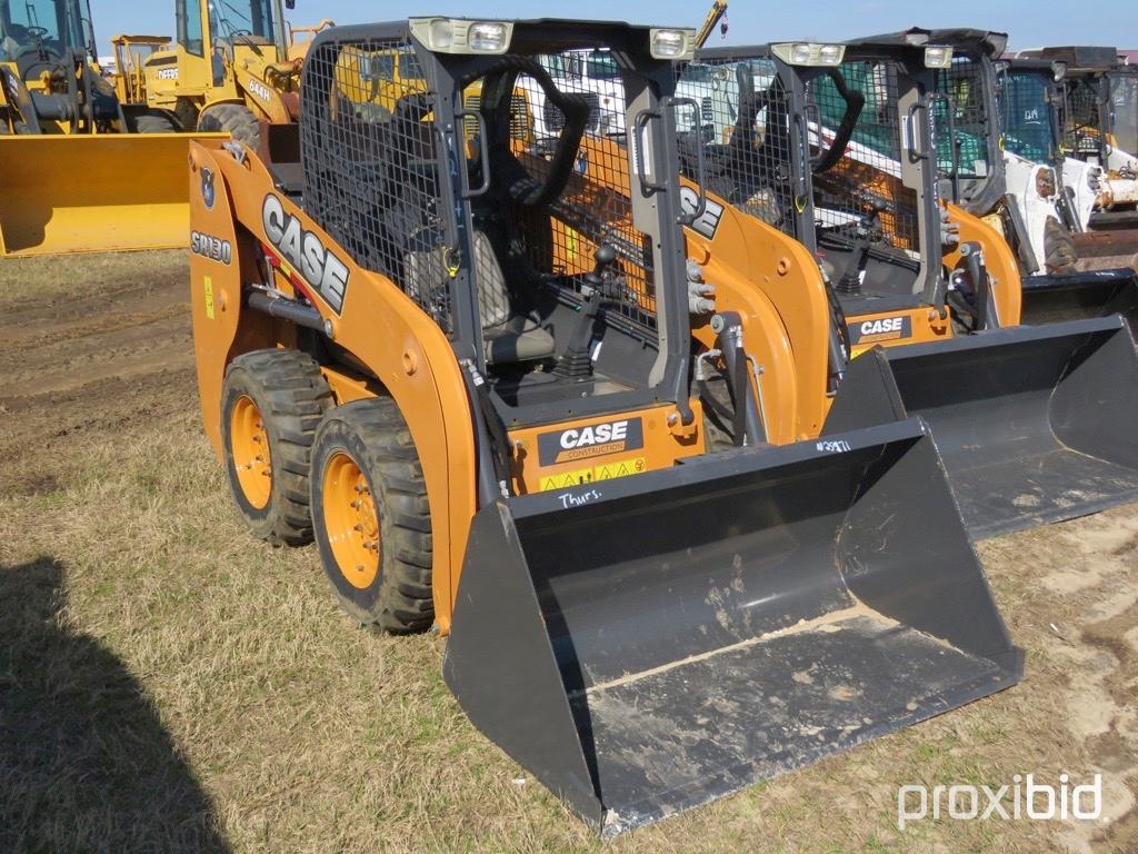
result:
[[[859,92],[865,104],[844,154],[836,164],[814,174],[814,214],[823,229],[843,231],[874,206],[883,243],[908,253],[920,251],[917,194],[901,182],[901,121],[898,113],[898,69],[888,61],[850,60],[834,75],[811,80],[810,147],[825,150],[834,141],[850,108],[841,87]],[[820,126],[819,126],[820,123]]]

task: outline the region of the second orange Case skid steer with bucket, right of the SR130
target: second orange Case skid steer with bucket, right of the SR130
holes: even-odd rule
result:
[[[1007,244],[941,202],[935,75],[950,52],[925,47],[899,34],[700,51],[706,124],[733,118],[726,141],[678,139],[684,173],[702,172],[710,196],[688,230],[691,245],[707,243],[693,257],[741,240],[790,260],[786,245],[800,244],[815,258],[803,280],[830,291],[844,332],[826,429],[922,414],[974,536],[1133,500],[1130,330],[1116,315],[1019,326]],[[745,214],[742,232],[724,232],[724,212]],[[778,281],[731,266],[759,290]]]

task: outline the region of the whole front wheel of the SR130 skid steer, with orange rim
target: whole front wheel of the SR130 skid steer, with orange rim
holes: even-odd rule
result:
[[[405,634],[435,622],[430,504],[398,407],[373,397],[324,416],[312,447],[312,519],[341,608]]]

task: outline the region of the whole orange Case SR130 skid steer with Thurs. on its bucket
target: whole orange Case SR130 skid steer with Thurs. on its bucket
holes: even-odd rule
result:
[[[681,192],[673,60],[693,39],[332,28],[298,162],[191,156],[203,413],[250,528],[314,536],[360,623],[448,633],[462,708],[605,837],[1022,668],[921,419],[816,437],[824,294],[775,293],[810,304],[783,322],[687,269],[679,223],[706,212]],[[586,136],[589,100],[545,71],[583,49],[619,64],[626,142]],[[423,76],[376,109],[360,59],[393,54]],[[562,114],[542,154],[520,75]],[[693,336],[719,354],[696,366]],[[691,389],[718,371],[729,447]]]

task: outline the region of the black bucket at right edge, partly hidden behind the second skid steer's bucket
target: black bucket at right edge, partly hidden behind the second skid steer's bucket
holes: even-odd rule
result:
[[[1138,322],[1138,272],[1130,268],[1088,270],[1021,279],[1021,321],[1029,326],[1122,314]]]

